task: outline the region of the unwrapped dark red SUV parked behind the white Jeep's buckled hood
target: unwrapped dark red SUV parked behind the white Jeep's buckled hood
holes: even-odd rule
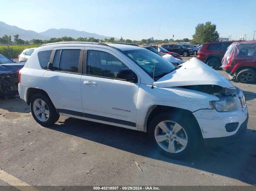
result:
[[[203,61],[213,69],[219,68],[228,46],[230,46],[233,42],[234,41],[220,41],[204,43],[197,52],[197,59]]]

